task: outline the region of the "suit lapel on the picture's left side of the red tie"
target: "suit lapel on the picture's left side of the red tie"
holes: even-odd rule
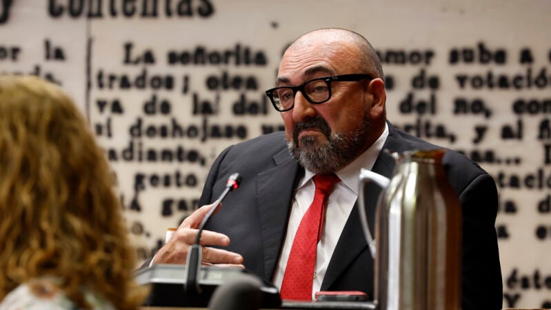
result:
[[[257,206],[264,254],[264,278],[272,280],[289,216],[299,165],[287,148],[274,156],[275,167],[258,175]],[[291,184],[291,186],[289,186]]]

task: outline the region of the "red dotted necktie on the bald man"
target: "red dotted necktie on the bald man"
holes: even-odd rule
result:
[[[325,205],[333,185],[339,182],[334,174],[314,176],[314,201],[302,217],[292,242],[291,253],[281,283],[281,298],[312,300],[312,281],[316,265],[316,247],[323,228]]]

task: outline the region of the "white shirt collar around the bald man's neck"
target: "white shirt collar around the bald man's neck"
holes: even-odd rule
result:
[[[385,122],[385,130],[383,131],[381,136],[379,136],[377,141],[375,141],[368,149],[365,150],[365,152],[358,156],[358,158],[354,159],[354,161],[352,161],[350,165],[335,172],[335,174],[337,174],[337,176],[341,179],[341,182],[344,183],[348,188],[350,188],[352,192],[358,194],[360,169],[372,169],[375,161],[377,161],[377,156],[379,156],[381,149],[383,149],[383,145],[385,144],[387,137],[388,124]],[[315,175],[316,174],[314,174],[314,172],[305,169],[304,177],[299,183],[298,188],[303,187]]]

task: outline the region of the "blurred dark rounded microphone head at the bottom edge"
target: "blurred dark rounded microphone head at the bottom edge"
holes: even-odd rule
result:
[[[241,273],[222,285],[212,294],[210,310],[257,310],[262,302],[262,281],[252,274]]]

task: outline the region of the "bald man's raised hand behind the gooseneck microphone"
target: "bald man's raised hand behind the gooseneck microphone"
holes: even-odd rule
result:
[[[197,231],[201,220],[208,211],[214,207],[212,205],[203,205],[188,216],[178,227],[172,238],[166,245],[161,247],[155,256],[154,264],[185,264],[188,257],[188,251],[197,238]],[[219,245],[222,247],[230,245],[230,238],[224,234],[214,231],[203,230],[201,233],[200,245]],[[210,264],[243,264],[243,257],[237,253],[225,251],[223,249],[214,249],[212,247],[203,247],[203,262]]]

